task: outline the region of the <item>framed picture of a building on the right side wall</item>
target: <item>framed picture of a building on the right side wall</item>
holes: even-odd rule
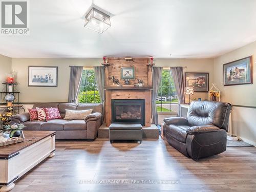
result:
[[[252,83],[252,56],[223,65],[224,86]]]

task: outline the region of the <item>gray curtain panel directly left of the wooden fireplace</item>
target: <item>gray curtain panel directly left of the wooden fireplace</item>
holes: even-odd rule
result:
[[[94,74],[95,74],[95,80],[97,84],[97,88],[99,91],[99,97],[101,99],[101,102],[103,104],[103,110],[102,110],[102,119],[104,119],[104,104],[105,104],[105,93],[104,93],[104,86],[105,86],[105,67],[104,66],[98,66],[94,67]]]

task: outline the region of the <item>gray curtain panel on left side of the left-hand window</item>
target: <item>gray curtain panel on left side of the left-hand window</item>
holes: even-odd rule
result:
[[[82,79],[83,66],[70,66],[69,99],[68,102],[76,103]]]

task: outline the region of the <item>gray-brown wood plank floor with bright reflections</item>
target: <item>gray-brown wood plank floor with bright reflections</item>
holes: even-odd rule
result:
[[[256,188],[256,147],[228,147],[220,155],[194,161],[161,138],[143,140],[142,144],[96,139],[57,141],[55,154],[16,181],[12,192]]]

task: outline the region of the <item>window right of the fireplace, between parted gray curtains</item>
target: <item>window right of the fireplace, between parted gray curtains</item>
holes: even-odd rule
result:
[[[174,80],[170,69],[163,69],[158,96],[156,99],[157,112],[177,113],[178,96],[176,94]]]

